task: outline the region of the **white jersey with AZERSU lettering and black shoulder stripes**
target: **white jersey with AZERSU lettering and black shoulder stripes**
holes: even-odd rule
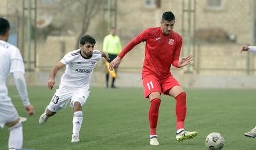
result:
[[[89,59],[81,55],[81,49],[68,52],[61,63],[66,64],[65,73],[61,77],[60,84],[67,87],[89,89],[92,71],[100,61],[102,54],[99,50],[93,50]]]

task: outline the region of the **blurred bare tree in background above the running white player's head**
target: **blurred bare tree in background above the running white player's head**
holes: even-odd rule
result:
[[[77,49],[81,37],[88,31],[91,20],[102,11],[103,4],[106,2],[106,0],[54,1],[51,9],[46,12],[54,18],[48,26],[49,34],[74,34],[76,36],[75,49]],[[38,10],[44,12],[45,8],[39,6]]]

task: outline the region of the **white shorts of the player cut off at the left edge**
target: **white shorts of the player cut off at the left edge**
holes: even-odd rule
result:
[[[0,127],[4,128],[4,124],[12,123],[19,119],[17,110],[15,109],[11,98],[0,100]]]

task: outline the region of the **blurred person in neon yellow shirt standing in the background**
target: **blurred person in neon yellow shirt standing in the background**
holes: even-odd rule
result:
[[[108,62],[113,61],[113,59],[115,59],[115,57],[118,55],[119,52],[121,52],[122,50],[122,46],[121,46],[121,41],[119,36],[116,35],[116,28],[112,27],[110,30],[110,34],[108,34],[107,36],[105,36],[104,40],[103,40],[103,50],[108,52],[109,54],[109,60]],[[106,62],[108,64],[108,62]],[[108,70],[108,66],[107,66],[107,70]],[[112,77],[112,83],[111,83],[111,87],[115,88],[115,79],[116,79],[116,71],[117,71],[117,66],[115,67],[115,74],[111,73],[111,77]],[[109,71],[107,71],[106,73],[106,87],[108,87],[108,80],[109,80]]]

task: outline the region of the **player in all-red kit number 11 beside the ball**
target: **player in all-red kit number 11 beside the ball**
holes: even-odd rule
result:
[[[127,52],[141,43],[141,41],[146,41],[142,80],[145,98],[149,98],[150,100],[148,117],[150,124],[150,145],[152,146],[159,145],[156,127],[161,103],[161,93],[176,99],[176,139],[178,141],[192,139],[198,134],[196,131],[190,132],[184,130],[186,93],[170,71],[171,65],[180,68],[193,61],[193,56],[179,59],[182,36],[173,31],[174,24],[175,16],[173,13],[171,11],[164,12],[160,27],[149,27],[138,34],[109,65],[109,68],[113,70],[115,66],[118,66]]]

